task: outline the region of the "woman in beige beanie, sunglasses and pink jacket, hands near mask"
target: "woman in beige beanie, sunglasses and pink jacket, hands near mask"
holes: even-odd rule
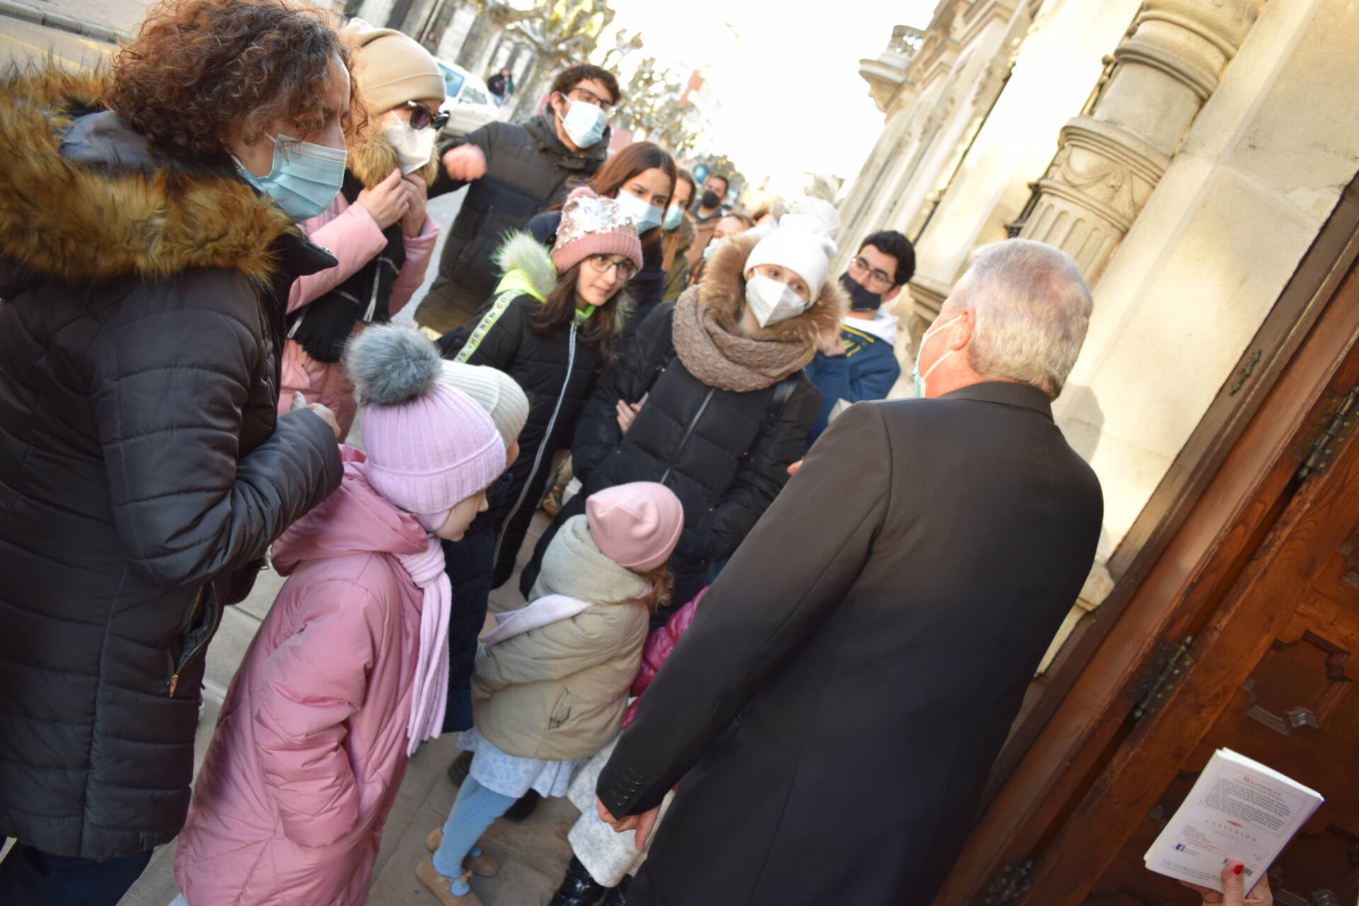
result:
[[[325,403],[345,435],[355,398],[340,357],[351,336],[390,321],[424,280],[439,238],[425,197],[438,173],[435,137],[448,118],[439,113],[444,81],[428,50],[357,20],[347,31],[371,121],[349,141],[340,194],[300,224],[340,264],[292,285],[279,394],[279,412],[298,393]]]

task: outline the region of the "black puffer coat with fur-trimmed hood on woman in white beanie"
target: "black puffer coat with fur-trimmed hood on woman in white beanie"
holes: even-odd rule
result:
[[[704,283],[686,291],[697,304],[726,312],[731,322],[745,304],[742,265],[753,239],[734,242],[715,255]],[[815,336],[833,326],[841,291],[828,284],[819,304],[799,318],[771,325],[769,338],[805,337],[806,359]],[[588,494],[631,481],[659,481],[678,494],[685,527],[675,546],[674,602],[689,600],[707,584],[708,569],[730,557],[788,481],[788,466],[802,458],[807,432],[821,407],[821,394],[792,368],[776,401],[779,380],[760,390],[735,393],[705,384],[685,367],[673,342],[675,303],[660,303],[637,327],[633,345],[599,380],[580,417],[571,448],[572,467],[584,492],[576,507],[553,522],[580,512]],[[650,395],[648,395],[650,394]],[[626,435],[618,431],[617,401],[646,405]],[[534,556],[552,538],[544,532]],[[533,577],[526,569],[520,579]]]

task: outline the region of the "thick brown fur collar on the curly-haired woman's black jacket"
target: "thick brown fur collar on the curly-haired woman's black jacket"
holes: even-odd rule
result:
[[[67,281],[189,268],[270,280],[275,240],[298,228],[245,182],[155,160],[144,143],[129,144],[140,171],[63,156],[68,126],[103,109],[107,83],[54,65],[0,75],[0,254]]]

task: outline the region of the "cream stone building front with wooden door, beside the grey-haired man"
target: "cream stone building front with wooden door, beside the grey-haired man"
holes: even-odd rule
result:
[[[1345,0],[943,0],[860,65],[843,244],[916,243],[912,338],[1006,236],[1095,295],[1055,414],[1098,562],[939,903],[1182,902],[1140,854],[1216,746],[1326,792],[1276,901],[1359,896],[1356,52]]]

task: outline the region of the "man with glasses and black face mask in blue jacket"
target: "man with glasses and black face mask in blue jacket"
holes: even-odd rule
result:
[[[901,376],[897,361],[897,316],[882,311],[916,272],[916,250],[894,230],[875,232],[859,246],[840,284],[849,310],[839,342],[817,352],[807,376],[821,390],[821,414],[811,428],[814,441],[839,409],[863,399],[886,399]]]

